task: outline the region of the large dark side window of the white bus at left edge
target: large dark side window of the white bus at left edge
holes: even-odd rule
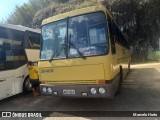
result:
[[[21,40],[21,31],[0,27],[0,70],[15,69],[26,63]]]

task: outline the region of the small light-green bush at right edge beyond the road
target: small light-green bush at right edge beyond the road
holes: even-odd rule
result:
[[[158,51],[150,52],[147,58],[151,61],[158,61],[160,60],[160,52]]]

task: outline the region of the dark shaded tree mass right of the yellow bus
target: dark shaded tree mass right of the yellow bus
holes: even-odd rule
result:
[[[136,60],[147,59],[150,47],[153,50],[158,48],[159,6],[159,0],[118,0],[110,4],[111,11],[118,15],[116,21],[125,28],[130,38],[130,44],[134,48],[133,58]]]

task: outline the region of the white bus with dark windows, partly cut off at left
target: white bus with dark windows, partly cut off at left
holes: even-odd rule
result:
[[[31,90],[26,64],[38,61],[40,30],[0,24],[0,100]]]

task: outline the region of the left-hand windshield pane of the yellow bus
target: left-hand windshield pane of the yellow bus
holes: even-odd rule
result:
[[[41,59],[65,58],[63,45],[67,33],[67,20],[60,20],[42,27]]]

